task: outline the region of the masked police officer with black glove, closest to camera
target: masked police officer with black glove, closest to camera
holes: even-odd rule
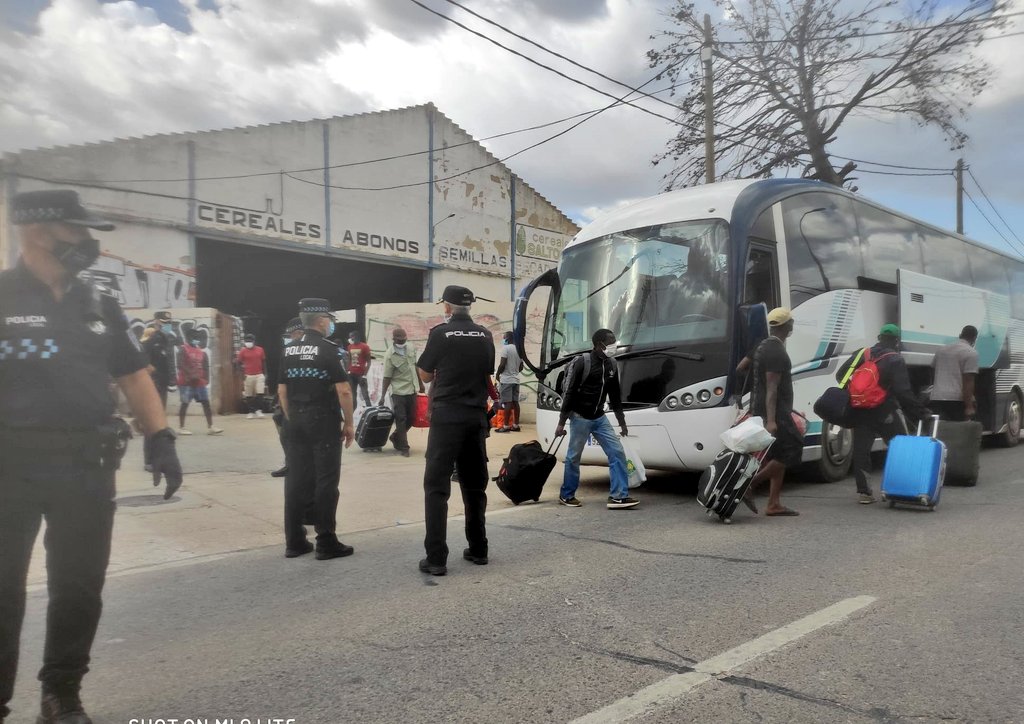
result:
[[[72,190],[15,196],[17,265],[0,272],[0,721],[13,694],[26,577],[46,518],[49,578],[38,722],[89,724],[79,688],[99,624],[127,436],[111,378],[151,442],[154,484],[181,484],[174,433],[117,301],[78,279],[111,230]],[[122,423],[123,425],[123,423]]]

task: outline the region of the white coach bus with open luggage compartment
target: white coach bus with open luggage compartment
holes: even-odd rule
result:
[[[544,288],[535,360],[526,321],[531,295]],[[803,179],[670,191],[584,227],[557,268],[523,287],[515,302],[515,343],[538,378],[539,435],[552,439],[565,364],[607,328],[618,339],[614,358],[640,458],[649,468],[701,470],[722,450],[719,435],[743,401],[734,370],[776,306],[793,310],[786,348],[795,410],[808,418],[804,461],[822,479],[848,473],[852,433],[823,423],[812,406],[835,385],[838,367],[873,344],[887,323],[900,326],[911,383],[922,392],[935,350],[966,325],[977,327],[977,419],[986,434],[1017,444],[1024,260]],[[596,444],[582,462],[607,464]]]

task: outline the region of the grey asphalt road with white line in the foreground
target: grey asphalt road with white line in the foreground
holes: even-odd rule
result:
[[[799,483],[800,517],[730,526],[692,479],[609,511],[590,475],[581,509],[492,515],[487,566],[453,520],[444,578],[416,569],[420,524],[348,536],[348,559],[273,546],[115,578],[84,698],[97,724],[1024,721],[1022,462],[986,450],[934,513]],[[8,722],[34,721],[44,605]]]

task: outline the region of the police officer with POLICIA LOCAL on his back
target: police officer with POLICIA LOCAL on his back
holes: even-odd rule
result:
[[[316,559],[352,555],[335,534],[341,442],[352,444],[352,388],[341,367],[338,345],[326,339],[334,315],[326,299],[299,302],[302,337],[285,347],[278,398],[288,427],[285,475],[285,557],[313,550],[302,525],[310,495],[315,501]]]

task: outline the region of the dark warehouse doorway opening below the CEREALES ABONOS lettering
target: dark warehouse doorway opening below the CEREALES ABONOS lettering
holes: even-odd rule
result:
[[[196,241],[196,305],[242,317],[246,332],[266,350],[271,380],[283,330],[302,297],[323,297],[334,309],[358,309],[360,330],[366,304],[423,301],[419,269],[210,239]],[[344,339],[351,327],[338,325],[335,339]]]

